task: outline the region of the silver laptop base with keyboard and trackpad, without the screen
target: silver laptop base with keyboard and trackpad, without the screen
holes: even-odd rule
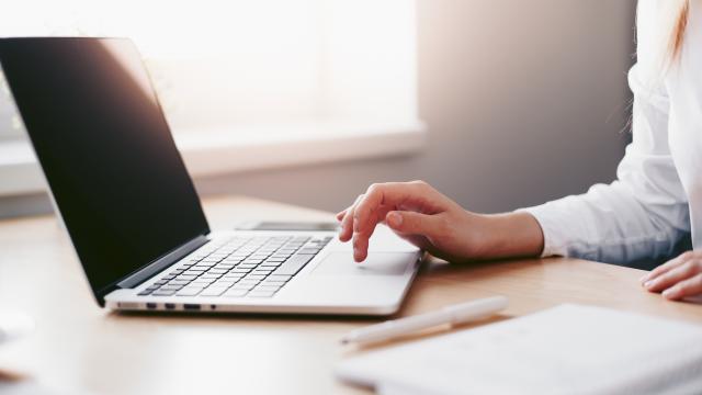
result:
[[[369,259],[363,263],[353,261],[349,244],[340,242],[333,232],[222,232],[208,238],[210,244],[194,250],[136,287],[120,289],[105,295],[106,306],[113,309],[211,313],[388,315],[399,308],[421,258],[416,247],[399,239],[385,226],[377,229],[373,236]],[[236,269],[242,264],[236,263],[237,261],[247,261],[246,258],[238,257],[248,253],[246,251],[236,256],[236,249],[230,252],[237,246],[246,246],[247,241],[254,241],[258,245],[265,240],[273,240],[278,245],[286,240],[282,245],[285,247],[286,242],[296,239],[306,240],[297,249],[298,251],[305,251],[309,246],[328,241],[314,257],[292,253],[292,259],[304,256],[304,261],[309,258],[299,271],[292,268],[285,270],[285,274],[276,274],[286,267],[291,258],[279,267],[261,267],[260,264],[265,264],[267,261],[267,258],[262,258],[261,263],[257,266],[264,269],[261,274],[253,274],[258,269],[252,269],[248,273],[246,272],[248,268]],[[225,250],[225,253],[235,255],[237,258],[229,260],[230,264],[225,263],[222,270],[215,270],[216,273],[212,276],[197,282],[197,279],[207,276],[207,271],[200,274],[199,270],[194,273],[197,276],[193,282],[180,287],[171,295],[155,296],[154,293],[158,294],[156,291],[149,295],[139,296],[139,293],[154,287],[155,283],[163,282],[162,286],[168,286],[173,280],[161,279],[178,279],[178,274],[181,273],[179,268],[185,269],[182,273],[188,275],[188,268],[195,267],[191,263],[207,256],[213,249],[219,246],[226,248],[228,245],[230,247]],[[213,260],[219,259],[217,257]],[[227,262],[227,258],[222,258],[220,262]],[[202,268],[205,269],[206,266]],[[213,268],[217,268],[217,263]],[[269,269],[272,270],[269,271]],[[251,276],[253,280],[248,281],[247,279]],[[190,281],[190,278],[186,279]]]

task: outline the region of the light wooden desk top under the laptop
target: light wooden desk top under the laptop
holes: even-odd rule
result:
[[[208,199],[213,228],[241,219],[331,215],[242,198]],[[399,315],[503,294],[506,316],[564,302],[702,323],[702,307],[663,301],[638,285],[642,271],[575,259],[450,267],[430,262]],[[332,376],[353,349],[338,343],[371,318],[144,316],[100,309],[67,236],[50,216],[0,222],[0,311],[21,309],[36,331],[0,346],[0,369],[27,372],[67,393],[364,393]]]

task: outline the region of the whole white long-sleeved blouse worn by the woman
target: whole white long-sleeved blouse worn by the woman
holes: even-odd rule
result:
[[[659,259],[690,233],[702,248],[702,1],[691,1],[682,52],[664,72],[669,1],[638,2],[637,64],[629,72],[633,142],[618,180],[522,210],[541,224],[543,256]]]

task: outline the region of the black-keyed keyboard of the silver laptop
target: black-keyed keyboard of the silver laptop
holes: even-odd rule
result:
[[[234,237],[190,256],[139,296],[271,297],[331,236]]]

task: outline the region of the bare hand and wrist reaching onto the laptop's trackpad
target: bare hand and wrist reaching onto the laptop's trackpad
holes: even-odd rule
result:
[[[452,262],[537,256],[543,248],[541,227],[530,214],[475,214],[423,181],[373,184],[337,219],[341,222],[339,239],[353,239],[356,262],[367,257],[369,239],[378,223]]]

